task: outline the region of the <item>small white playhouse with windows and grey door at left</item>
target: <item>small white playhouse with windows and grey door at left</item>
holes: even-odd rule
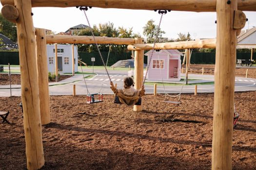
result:
[[[58,70],[59,73],[72,73],[72,46],[71,45],[57,45],[58,53]],[[48,71],[55,72],[55,46],[47,45],[47,63]],[[74,46],[74,64],[75,72],[78,71],[78,50]]]

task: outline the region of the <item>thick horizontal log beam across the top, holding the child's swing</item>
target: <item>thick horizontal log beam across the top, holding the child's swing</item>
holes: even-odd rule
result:
[[[256,11],[255,0],[237,0],[241,11]],[[120,8],[137,10],[165,9],[172,11],[215,12],[216,0],[31,0],[32,7]],[[13,4],[13,0],[1,0],[1,4]]]

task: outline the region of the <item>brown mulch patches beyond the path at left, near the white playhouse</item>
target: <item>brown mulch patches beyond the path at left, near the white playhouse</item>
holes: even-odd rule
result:
[[[60,75],[58,80],[59,81],[65,80],[69,77],[71,77],[71,75]],[[52,79],[49,82],[55,82],[55,79]],[[20,74],[12,74],[11,75],[11,83],[12,83],[12,85],[20,85]],[[8,74],[1,74],[0,85],[10,85],[10,78],[9,78]]]

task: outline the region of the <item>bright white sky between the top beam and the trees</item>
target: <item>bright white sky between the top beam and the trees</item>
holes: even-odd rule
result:
[[[2,6],[0,6],[1,8]],[[56,33],[65,32],[70,27],[87,24],[82,11],[76,7],[71,8],[33,8],[34,26],[45,28]],[[256,12],[245,12],[249,22],[244,29],[256,26]],[[91,26],[99,23],[112,22],[116,28],[133,28],[134,33],[143,36],[143,27],[147,21],[153,19],[158,25],[160,15],[148,10],[103,9],[92,8],[87,11]],[[193,39],[216,37],[216,13],[215,12],[168,12],[162,18],[161,30],[166,33],[163,37],[176,39],[178,33],[191,34]]]

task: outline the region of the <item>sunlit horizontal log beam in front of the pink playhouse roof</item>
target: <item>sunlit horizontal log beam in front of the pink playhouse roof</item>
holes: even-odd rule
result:
[[[128,45],[128,50],[152,50],[153,44]],[[156,43],[155,50],[216,48],[216,39]]]

